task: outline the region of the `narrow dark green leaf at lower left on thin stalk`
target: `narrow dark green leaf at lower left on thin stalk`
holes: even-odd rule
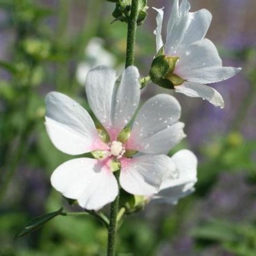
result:
[[[50,214],[41,215],[39,217],[36,217],[35,219],[30,220],[27,222],[25,229],[21,231],[21,233],[18,234],[18,236],[24,236],[28,235],[37,229],[40,229],[46,222],[53,219],[54,217],[63,214],[63,208],[61,207],[58,211],[51,212]]]

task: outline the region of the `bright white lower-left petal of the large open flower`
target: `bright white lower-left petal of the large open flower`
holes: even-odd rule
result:
[[[78,201],[87,210],[98,210],[115,200],[118,186],[115,176],[103,160],[72,159],[56,168],[53,187],[63,196]]]

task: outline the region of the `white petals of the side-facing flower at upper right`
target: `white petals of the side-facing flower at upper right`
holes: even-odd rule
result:
[[[157,15],[157,51],[163,46],[161,30],[163,10],[154,8]],[[215,45],[205,39],[211,23],[211,13],[206,9],[189,12],[190,4],[183,0],[174,0],[167,25],[167,38],[164,54],[178,57],[173,74],[182,78],[180,85],[174,84],[176,92],[190,97],[207,99],[215,106],[224,107],[224,101],[214,88],[205,86],[233,77],[241,68],[222,67],[222,61]]]

